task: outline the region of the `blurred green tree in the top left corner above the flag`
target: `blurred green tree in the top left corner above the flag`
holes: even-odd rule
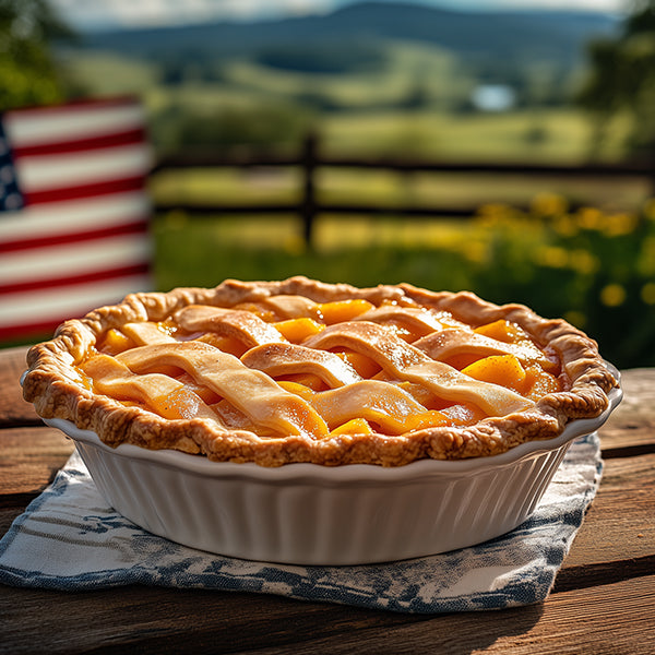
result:
[[[73,36],[46,0],[0,0],[0,110],[63,99],[50,45]]]

